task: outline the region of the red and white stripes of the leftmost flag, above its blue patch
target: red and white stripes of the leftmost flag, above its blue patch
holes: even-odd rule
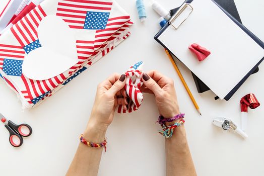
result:
[[[0,44],[0,68],[3,69],[5,59],[23,60],[25,50],[21,46]]]

